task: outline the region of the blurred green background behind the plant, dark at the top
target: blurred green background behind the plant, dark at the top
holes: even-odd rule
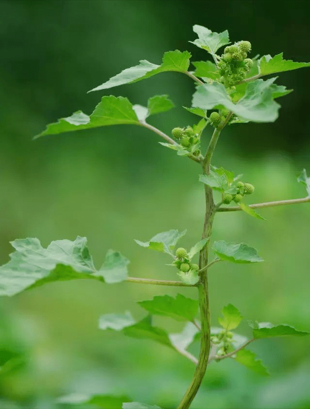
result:
[[[252,56],[275,55],[309,61],[308,1],[0,1],[2,87],[0,138],[0,262],[9,260],[16,238],[52,240],[86,236],[95,264],[108,248],[131,260],[130,275],[176,279],[169,259],[138,247],[160,231],[188,229],[190,246],[201,236],[204,197],[197,164],[158,144],[136,127],[106,127],[32,141],[49,122],[79,109],[92,112],[103,93],[86,92],[139,59],[159,64],[165,51],[189,50],[192,60],[207,57],[190,44],[193,24],[228,29],[232,41],[252,43]],[[256,186],[251,201],[302,197],[295,174],[310,172],[309,69],[279,75],[294,93],[280,102],[272,124],[226,128],[214,157]],[[170,134],[192,125],[193,82],[178,73],[112,89],[145,105],[167,93],[177,108],[151,118]],[[207,143],[210,130],[206,130]],[[249,203],[251,202],[248,201]],[[210,272],[212,324],[231,302],[243,316],[288,323],[310,330],[308,204],[264,209],[267,223],[246,214],[219,214],[213,239],[246,242],[266,260],[253,266],[216,265]],[[194,289],[88,280],[52,283],[0,300],[1,337],[27,351],[0,376],[3,408],[52,408],[52,398],[69,393],[127,394],[133,400],[175,408],[186,390],[193,364],[147,340],[99,331],[104,313],[132,311],[135,303]],[[156,317],[170,332],[182,325]],[[242,335],[250,335],[241,325]],[[3,341],[4,340],[4,341]],[[252,345],[270,369],[261,378],[239,364],[212,363],[192,409],[310,408],[308,337],[262,340]],[[28,406],[27,406],[28,405]],[[30,406],[29,406],[30,405]]]

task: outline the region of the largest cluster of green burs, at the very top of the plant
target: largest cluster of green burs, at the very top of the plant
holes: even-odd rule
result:
[[[246,77],[253,64],[251,58],[247,58],[250,51],[249,41],[240,41],[224,48],[218,67],[225,87],[231,87]]]

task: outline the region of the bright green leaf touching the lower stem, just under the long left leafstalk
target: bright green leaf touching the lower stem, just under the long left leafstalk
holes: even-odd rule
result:
[[[171,296],[156,296],[152,300],[139,301],[139,305],[150,314],[169,316],[177,321],[192,321],[198,310],[198,301],[177,294]]]

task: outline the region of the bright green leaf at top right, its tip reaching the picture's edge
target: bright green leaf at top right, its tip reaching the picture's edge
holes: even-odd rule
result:
[[[283,53],[272,57],[270,55],[262,56],[258,60],[259,74],[268,75],[280,73],[283,71],[296,70],[297,68],[310,67],[310,62],[293,62],[283,59]]]

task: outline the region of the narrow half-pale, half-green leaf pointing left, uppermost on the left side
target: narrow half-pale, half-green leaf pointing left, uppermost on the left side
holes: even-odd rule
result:
[[[158,73],[164,73],[167,71],[186,72],[189,68],[190,53],[179,50],[168,51],[164,54],[161,65],[152,64],[147,60],[141,60],[139,65],[135,67],[126,68],[120,74],[117,74],[110,78],[91,91],[105,90],[107,88],[117,87],[123,84],[131,84],[133,82],[140,81],[144,78],[149,78]]]

